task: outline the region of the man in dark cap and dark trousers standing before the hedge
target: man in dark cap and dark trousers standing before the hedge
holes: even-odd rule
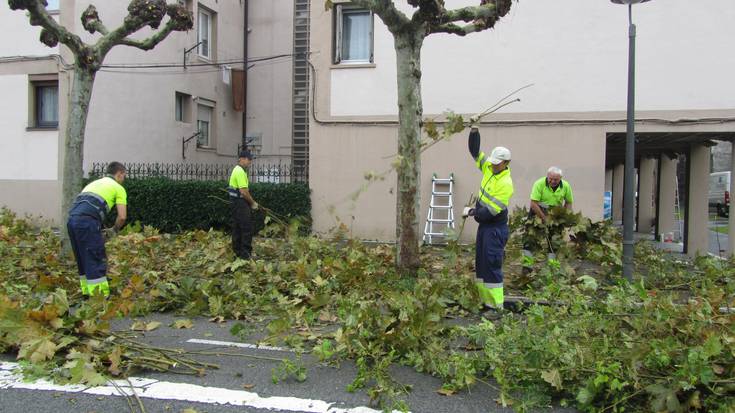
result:
[[[253,161],[250,151],[240,152],[237,165],[230,174],[227,193],[230,195],[232,209],[232,250],[238,258],[249,259],[253,253],[253,217],[252,211],[258,209],[258,203],[250,195],[247,168]]]

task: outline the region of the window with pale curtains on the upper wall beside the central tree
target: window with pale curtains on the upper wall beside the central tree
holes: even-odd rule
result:
[[[373,14],[346,4],[335,6],[335,63],[372,63]]]

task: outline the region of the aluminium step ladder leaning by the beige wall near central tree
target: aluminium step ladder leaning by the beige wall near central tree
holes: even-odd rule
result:
[[[454,230],[454,174],[449,178],[431,177],[431,202],[424,226],[425,244],[446,244],[447,235]]]

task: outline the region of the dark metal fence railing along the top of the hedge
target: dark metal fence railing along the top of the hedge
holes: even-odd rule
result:
[[[90,177],[105,174],[107,162],[93,162],[89,171]],[[128,178],[170,178],[189,181],[226,181],[230,179],[233,164],[203,163],[157,163],[129,162],[124,163]],[[306,182],[307,172],[303,167],[289,163],[253,162],[248,168],[250,182],[289,183]]]

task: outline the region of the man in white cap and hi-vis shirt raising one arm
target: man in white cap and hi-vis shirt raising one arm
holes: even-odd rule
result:
[[[465,208],[464,216],[473,216],[477,228],[475,272],[477,290],[486,307],[499,311],[503,294],[503,257],[508,242],[508,204],[513,196],[510,176],[510,150],[502,146],[490,156],[480,152],[480,132],[472,128],[469,136],[470,155],[482,171],[482,181],[474,208]]]

